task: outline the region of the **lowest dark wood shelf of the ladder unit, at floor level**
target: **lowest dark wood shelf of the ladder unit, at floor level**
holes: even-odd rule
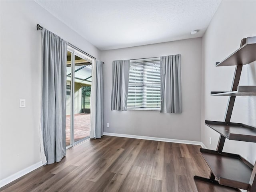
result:
[[[218,182],[210,182],[209,179],[202,179],[198,176],[194,176],[194,180],[198,192],[241,192],[239,189],[223,186]]]

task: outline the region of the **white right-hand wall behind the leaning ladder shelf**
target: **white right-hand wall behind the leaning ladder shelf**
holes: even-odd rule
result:
[[[234,66],[215,67],[240,46],[240,40],[256,36],[256,1],[222,1],[203,36],[202,142],[216,149],[219,134],[204,120],[223,121],[227,96],[210,96],[210,91],[230,91]],[[240,85],[256,85],[256,63],[244,65]],[[236,97],[231,122],[256,126],[256,96]],[[212,145],[209,144],[212,137]],[[226,140],[224,151],[241,154],[254,164],[256,143]]]

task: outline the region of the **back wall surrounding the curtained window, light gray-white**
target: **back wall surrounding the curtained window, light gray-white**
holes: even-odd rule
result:
[[[181,54],[182,114],[158,111],[111,111],[112,61]],[[200,141],[202,38],[102,52],[104,132]],[[106,123],[110,127],[106,127]]]

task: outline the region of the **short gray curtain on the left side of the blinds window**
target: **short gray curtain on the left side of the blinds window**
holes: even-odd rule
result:
[[[126,111],[130,60],[113,61],[111,110]]]

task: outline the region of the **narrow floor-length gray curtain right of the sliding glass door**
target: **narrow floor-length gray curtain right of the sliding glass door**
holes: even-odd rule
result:
[[[95,100],[95,137],[101,138],[103,136],[103,125],[104,125],[104,95],[103,95],[103,62],[96,60],[96,100]]]

